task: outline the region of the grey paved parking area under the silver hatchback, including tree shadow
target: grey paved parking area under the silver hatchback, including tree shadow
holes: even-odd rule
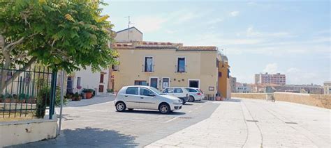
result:
[[[220,105],[212,101],[187,103],[169,115],[154,110],[118,113],[113,99],[70,102],[64,108],[63,131],[57,139],[15,147],[144,147],[207,119]]]

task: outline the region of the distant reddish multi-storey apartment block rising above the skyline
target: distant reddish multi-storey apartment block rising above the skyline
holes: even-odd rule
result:
[[[285,74],[255,74],[255,83],[262,85],[276,84],[276,85],[285,85],[286,76]]]

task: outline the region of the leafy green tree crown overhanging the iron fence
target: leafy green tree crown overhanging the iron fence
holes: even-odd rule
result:
[[[71,73],[116,63],[110,49],[114,33],[98,0],[0,0],[0,61],[3,69],[41,63]],[[1,72],[1,92],[7,82]]]

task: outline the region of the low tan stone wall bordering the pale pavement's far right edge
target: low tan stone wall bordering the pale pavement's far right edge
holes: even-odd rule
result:
[[[232,93],[232,97],[240,97],[247,99],[265,99],[266,93]],[[321,108],[331,109],[331,95],[325,94],[300,94],[292,92],[274,92],[276,101],[288,101],[297,104],[305,104],[308,106],[317,106]]]

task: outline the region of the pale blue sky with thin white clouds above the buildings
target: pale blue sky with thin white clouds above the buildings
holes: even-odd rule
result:
[[[331,81],[330,1],[104,1],[114,31],[135,26],[143,40],[216,46],[230,75],[253,83],[261,72],[287,84]]]

